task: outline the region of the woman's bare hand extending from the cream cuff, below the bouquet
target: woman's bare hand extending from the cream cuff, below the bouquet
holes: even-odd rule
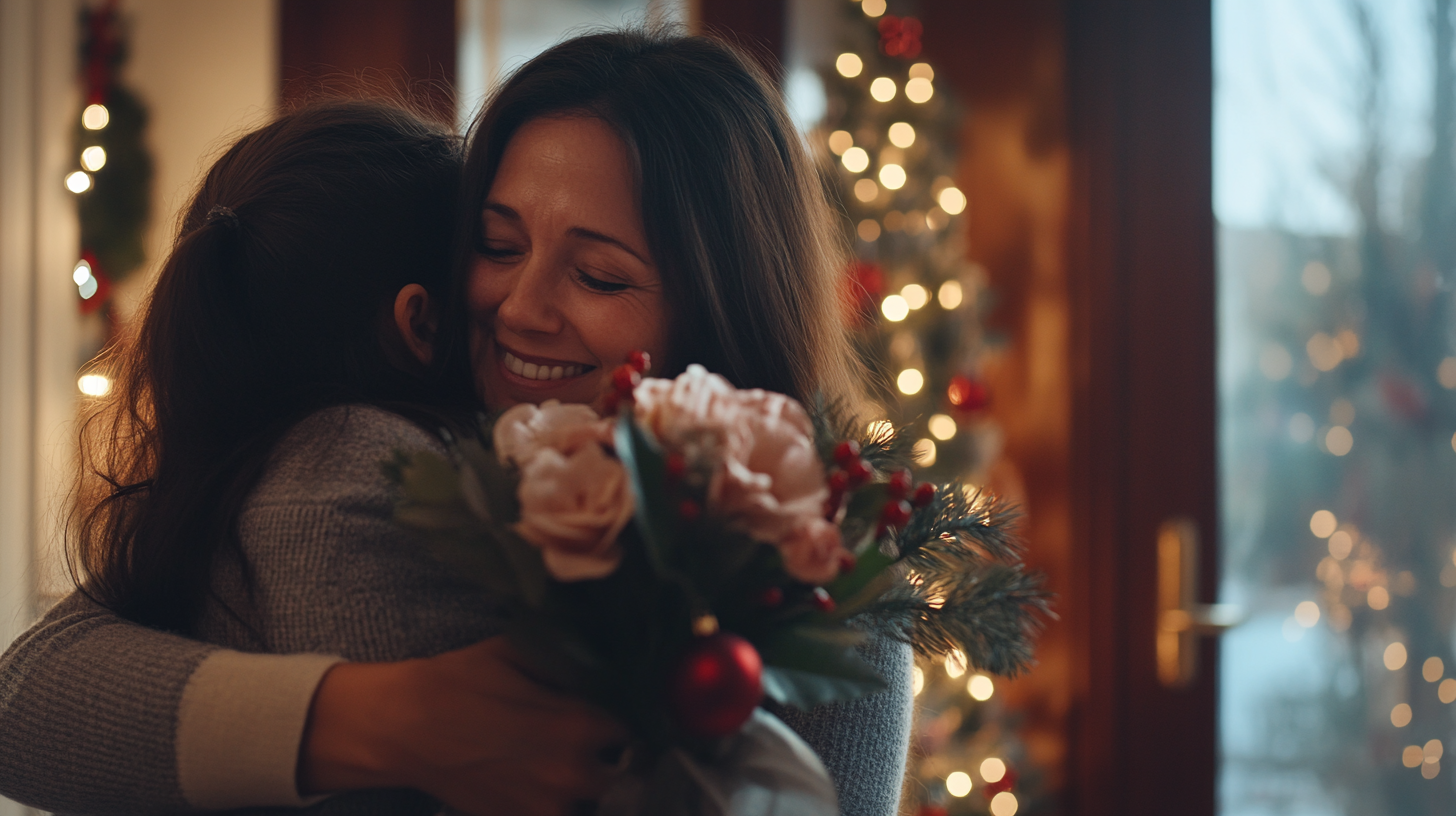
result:
[[[473,816],[555,816],[606,790],[626,730],[547,691],[495,637],[435,657],[341,663],[298,755],[304,796],[411,787]]]

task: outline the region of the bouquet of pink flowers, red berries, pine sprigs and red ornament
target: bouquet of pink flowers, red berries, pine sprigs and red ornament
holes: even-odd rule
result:
[[[837,813],[760,704],[879,691],[866,637],[1029,664],[1047,596],[1000,503],[917,484],[906,440],[855,439],[831,405],[646,369],[613,373],[606,417],[523,404],[387,466],[397,519],[504,599],[531,667],[636,736],[604,813]]]

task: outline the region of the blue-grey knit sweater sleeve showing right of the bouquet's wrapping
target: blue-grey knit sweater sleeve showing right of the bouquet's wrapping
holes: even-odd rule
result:
[[[914,713],[910,647],[872,638],[860,653],[885,678],[887,689],[811,711],[775,707],[775,714],[824,761],[843,816],[895,816]]]

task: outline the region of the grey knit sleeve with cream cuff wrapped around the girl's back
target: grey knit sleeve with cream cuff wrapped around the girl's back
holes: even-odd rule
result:
[[[217,648],[73,593],[0,657],[0,794],[63,813],[195,809],[186,782],[205,766],[179,764],[178,743],[226,742],[255,801],[301,804],[298,736],[333,663]]]

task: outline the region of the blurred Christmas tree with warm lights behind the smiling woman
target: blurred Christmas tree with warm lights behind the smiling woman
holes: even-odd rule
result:
[[[839,54],[820,70],[827,112],[812,134],[823,179],[856,259],[844,305],[859,353],[881,374],[881,423],[909,428],[938,481],[983,484],[999,447],[990,393],[984,278],[965,258],[965,195],[955,187],[962,111],[920,60],[923,26],[885,0],[844,0]],[[952,653],[916,666],[916,734],[907,813],[1035,810],[996,680]],[[971,791],[976,791],[973,794]]]

